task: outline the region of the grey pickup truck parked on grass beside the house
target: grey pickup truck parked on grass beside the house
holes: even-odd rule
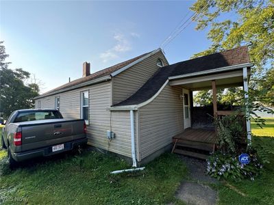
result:
[[[86,144],[84,120],[64,120],[55,109],[21,109],[5,123],[2,147],[10,167],[38,156],[50,156]]]

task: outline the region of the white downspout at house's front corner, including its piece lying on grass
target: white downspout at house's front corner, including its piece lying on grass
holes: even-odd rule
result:
[[[135,151],[135,128],[134,128],[134,110],[130,110],[130,133],[131,133],[131,138],[132,138],[132,167],[133,169],[122,169],[122,170],[117,170],[110,172],[111,174],[120,174],[123,172],[136,172],[136,171],[141,171],[144,170],[145,167],[138,167],[137,168],[137,162],[136,162],[136,151]]]

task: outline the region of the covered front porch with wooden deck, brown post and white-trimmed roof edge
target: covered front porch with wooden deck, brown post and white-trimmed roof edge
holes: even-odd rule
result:
[[[199,76],[178,76],[169,78],[169,85],[182,87],[182,102],[184,107],[184,131],[173,137],[173,150],[177,154],[207,159],[217,145],[214,128],[214,118],[234,113],[217,105],[217,89],[228,87],[243,87],[247,92],[247,81],[250,68],[237,68],[226,72],[207,73]],[[212,106],[193,106],[193,92],[212,90]],[[247,93],[245,98],[248,98]],[[243,120],[243,130],[247,132],[246,139],[251,139],[250,122]],[[198,123],[197,123],[198,122]]]

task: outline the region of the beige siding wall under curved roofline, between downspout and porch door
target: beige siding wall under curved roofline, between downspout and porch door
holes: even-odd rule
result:
[[[183,102],[179,98],[180,95],[182,87],[166,85],[154,100],[140,108],[142,159],[169,145],[172,137],[183,131]]]

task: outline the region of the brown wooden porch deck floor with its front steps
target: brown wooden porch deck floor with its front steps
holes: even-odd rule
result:
[[[188,128],[173,137],[173,150],[177,154],[207,159],[210,152],[214,152],[216,135],[215,131]]]

